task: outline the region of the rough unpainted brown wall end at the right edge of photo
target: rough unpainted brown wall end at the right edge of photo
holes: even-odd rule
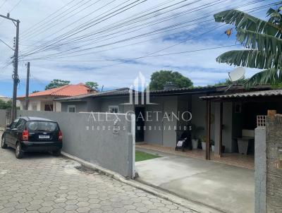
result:
[[[282,212],[282,168],[278,169],[278,150],[282,149],[282,115],[266,117],[266,212]]]

